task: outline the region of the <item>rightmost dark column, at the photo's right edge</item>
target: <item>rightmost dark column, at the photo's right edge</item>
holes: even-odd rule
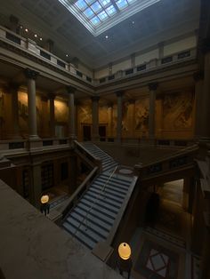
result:
[[[195,99],[196,99],[196,116],[195,116],[195,139],[202,138],[202,110],[203,110],[203,84],[204,72],[199,71],[193,75],[195,81]]]

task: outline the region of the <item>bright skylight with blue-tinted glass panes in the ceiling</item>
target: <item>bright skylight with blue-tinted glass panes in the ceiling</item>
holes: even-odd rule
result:
[[[93,36],[160,0],[59,0]]]

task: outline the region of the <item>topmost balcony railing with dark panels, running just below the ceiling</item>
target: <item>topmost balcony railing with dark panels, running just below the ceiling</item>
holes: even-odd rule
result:
[[[181,63],[185,60],[194,60],[196,58],[196,48],[190,48],[183,50],[182,52],[176,52],[162,59],[149,60],[140,65],[136,65],[133,68],[119,70],[117,73],[114,73],[110,76],[101,76],[101,78],[95,79],[92,76],[87,76],[86,74],[79,71],[73,64],[61,60],[51,52],[47,52],[42,47],[37,45],[36,42],[19,36],[7,28],[0,27],[0,40],[6,42],[7,44],[12,44],[12,46],[16,46],[25,52],[29,52],[31,55],[36,56],[40,60],[44,60],[46,63],[49,63],[54,67],[69,73],[69,75],[77,77],[77,79],[85,82],[86,84],[92,84],[95,86],[114,83],[120,79],[130,76],[139,76],[154,69],[166,68],[168,66]]]

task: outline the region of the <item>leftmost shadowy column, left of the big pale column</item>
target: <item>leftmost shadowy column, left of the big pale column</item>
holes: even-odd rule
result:
[[[12,93],[12,139],[20,139],[18,90],[19,84],[11,83],[10,92]]]

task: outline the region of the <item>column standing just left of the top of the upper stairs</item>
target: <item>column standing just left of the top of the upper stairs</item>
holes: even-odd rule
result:
[[[75,134],[75,92],[76,88],[67,86],[67,92],[69,94],[69,138],[76,140]]]

